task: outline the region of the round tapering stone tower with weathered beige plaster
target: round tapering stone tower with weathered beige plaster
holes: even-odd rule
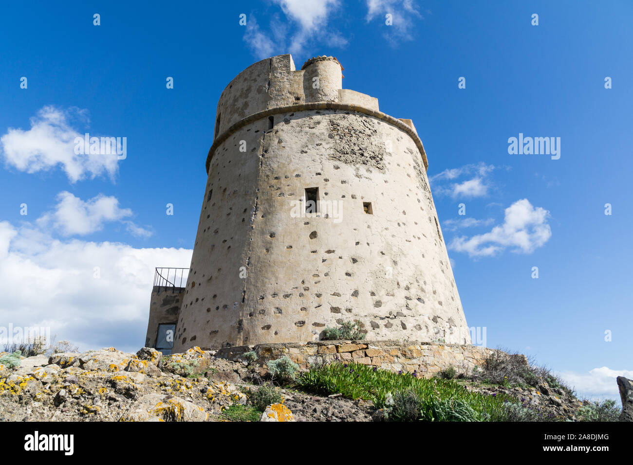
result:
[[[222,92],[174,352],[353,320],[368,340],[470,344],[422,141],[341,70],[279,55]]]

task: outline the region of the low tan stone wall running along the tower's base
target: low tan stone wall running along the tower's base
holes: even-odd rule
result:
[[[215,356],[237,361],[251,350],[258,355],[260,364],[283,356],[288,356],[298,363],[301,369],[307,369],[315,363],[354,361],[392,371],[416,371],[420,376],[427,378],[450,366],[458,370],[472,371],[475,366],[482,366],[491,354],[500,352],[477,345],[361,340],[242,345],[220,349],[215,352]],[[515,357],[522,357],[523,362],[527,364],[525,356]]]

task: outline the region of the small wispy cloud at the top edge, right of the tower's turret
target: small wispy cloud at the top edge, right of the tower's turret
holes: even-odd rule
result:
[[[385,15],[391,15],[392,25],[385,25]],[[413,0],[367,0],[367,22],[379,18],[385,26],[383,36],[391,46],[413,40],[413,30],[422,15]]]

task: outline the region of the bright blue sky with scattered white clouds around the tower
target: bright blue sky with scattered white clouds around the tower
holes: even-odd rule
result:
[[[136,350],[154,266],[189,266],[225,85],[267,56],[327,54],[344,88],[414,121],[468,325],[617,397],[615,375],[633,377],[632,17],[624,0],[7,4],[0,325]],[[73,158],[85,132],[126,137],[127,157]],[[509,154],[519,133],[560,137],[560,159]]]

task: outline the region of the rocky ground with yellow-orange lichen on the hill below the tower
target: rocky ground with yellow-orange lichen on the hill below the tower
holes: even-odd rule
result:
[[[246,388],[267,376],[265,367],[216,358],[215,352],[197,347],[168,357],[147,347],[137,354],[110,347],[22,358],[19,366],[0,365],[0,421],[218,421],[226,407],[246,404]],[[573,420],[582,406],[547,385],[523,389],[463,383],[489,395],[513,395],[541,409],[544,419]],[[371,401],[289,389],[282,394],[283,405],[268,409],[263,421],[282,416],[294,421],[382,419]]]

